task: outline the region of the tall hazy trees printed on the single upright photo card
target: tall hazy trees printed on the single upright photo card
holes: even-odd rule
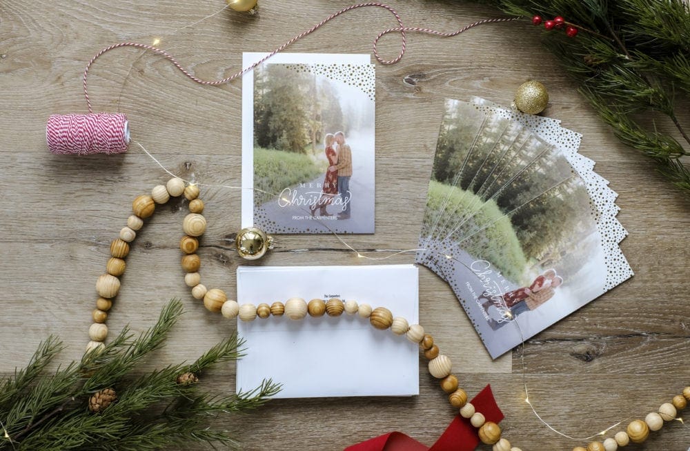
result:
[[[288,152],[315,152],[344,118],[331,83],[294,65],[268,64],[254,70],[255,144]]]

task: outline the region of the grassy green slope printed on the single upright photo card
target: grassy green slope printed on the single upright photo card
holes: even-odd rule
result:
[[[298,183],[311,181],[326,173],[324,164],[313,157],[282,150],[254,148],[254,188],[257,205],[266,203],[280,194],[285,188]]]

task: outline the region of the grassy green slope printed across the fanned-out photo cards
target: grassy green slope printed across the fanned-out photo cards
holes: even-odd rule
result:
[[[451,234],[450,239],[462,240],[462,250],[475,259],[491,262],[507,279],[522,279],[527,259],[510,218],[495,201],[484,201],[472,192],[432,180],[422,236],[432,232],[432,238],[439,240]]]

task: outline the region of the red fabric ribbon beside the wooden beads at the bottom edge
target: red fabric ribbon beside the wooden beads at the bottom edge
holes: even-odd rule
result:
[[[503,412],[496,405],[491,385],[486,385],[471,401],[477,412],[482,412],[486,421],[500,423]],[[469,419],[456,415],[451,424],[431,448],[428,448],[402,432],[388,432],[380,437],[349,446],[345,451],[472,451],[479,445],[477,428]]]

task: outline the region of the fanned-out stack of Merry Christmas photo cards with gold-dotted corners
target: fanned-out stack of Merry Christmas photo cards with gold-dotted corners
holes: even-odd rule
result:
[[[581,139],[556,119],[446,101],[416,261],[451,285],[493,358],[633,275],[617,194]]]

